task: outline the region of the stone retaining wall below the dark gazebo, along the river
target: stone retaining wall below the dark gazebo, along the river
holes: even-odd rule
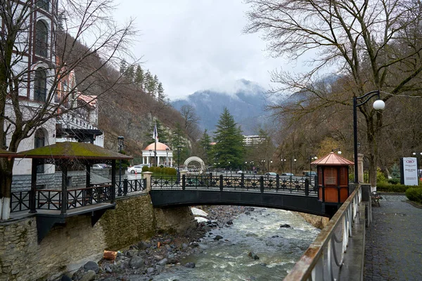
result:
[[[0,280],[46,280],[99,261],[103,250],[117,250],[148,239],[156,230],[183,230],[193,221],[188,207],[155,210],[148,194],[117,198],[114,210],[91,226],[90,216],[66,219],[40,244],[34,216],[0,223]],[[178,223],[179,222],[179,223]],[[167,229],[166,229],[167,227]]]

